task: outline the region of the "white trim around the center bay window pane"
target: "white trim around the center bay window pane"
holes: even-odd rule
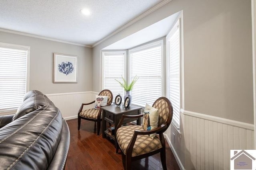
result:
[[[128,76],[128,82],[130,83],[132,78],[131,78],[131,54],[132,53],[136,53],[138,51],[142,51],[142,50],[147,50],[150,48],[154,48],[157,47],[158,45],[161,46],[161,96],[164,96],[165,94],[165,83],[164,83],[164,58],[165,58],[165,54],[164,54],[164,37],[160,38],[160,39],[155,39],[153,41],[150,41],[148,43],[144,43],[142,45],[133,47],[131,49],[128,49],[128,69],[127,69],[127,76]],[[134,104],[136,106],[139,106],[137,104]],[[144,107],[144,106],[142,106]]]

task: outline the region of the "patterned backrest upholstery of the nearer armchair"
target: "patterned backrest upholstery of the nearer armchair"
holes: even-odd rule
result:
[[[153,107],[158,109],[159,113],[159,120],[158,120],[158,126],[160,126],[162,123],[166,122],[169,116],[169,108],[168,108],[168,103],[161,99],[157,100],[154,104]]]

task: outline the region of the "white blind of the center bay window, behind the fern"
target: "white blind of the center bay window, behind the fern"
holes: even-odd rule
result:
[[[161,41],[162,42],[162,41]],[[162,43],[130,51],[130,77],[138,76],[132,89],[132,104],[152,105],[162,96]]]

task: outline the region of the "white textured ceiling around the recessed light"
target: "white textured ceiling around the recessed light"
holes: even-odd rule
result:
[[[162,1],[0,0],[0,28],[93,45]]]

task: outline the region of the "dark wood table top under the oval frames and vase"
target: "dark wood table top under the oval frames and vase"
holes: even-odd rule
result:
[[[123,108],[122,105],[120,105],[120,106],[110,105],[110,106],[103,106],[103,107],[101,107],[101,109],[118,115],[118,114],[124,114],[126,112],[130,112],[130,111],[134,111],[134,110],[139,110],[139,109],[142,109],[142,107],[131,105],[129,109],[128,108],[126,109],[126,108]]]

